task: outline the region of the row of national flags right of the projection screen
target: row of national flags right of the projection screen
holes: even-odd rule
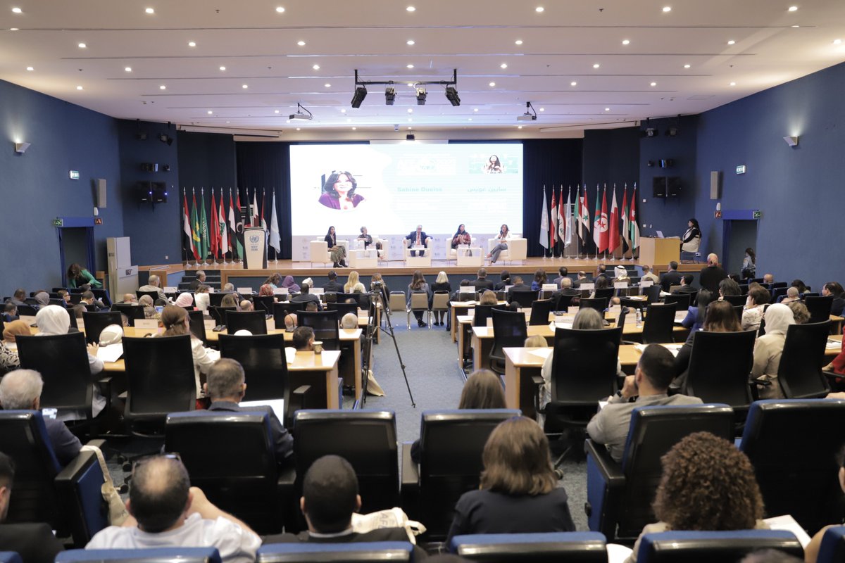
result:
[[[590,208],[587,202],[586,185],[582,188],[579,184],[575,187],[575,208],[572,205],[572,187],[566,195],[564,203],[564,187],[555,192],[552,186],[552,205],[548,206],[546,187],[542,188],[542,211],[540,212],[540,246],[551,249],[554,252],[555,246],[560,243],[564,248],[572,244],[572,232],[575,226],[578,230],[578,238],[581,239],[581,246],[585,246],[590,238],[590,225],[592,225],[592,241],[596,246],[596,253],[613,253],[619,246],[623,252],[634,251],[640,246],[640,226],[636,222],[636,184],[631,192],[630,203],[628,199],[628,185],[625,184],[622,196],[621,212],[616,204],[616,185],[613,185],[613,203],[608,214],[608,185],[604,185],[604,192],[600,194],[601,188],[596,185],[596,210],[593,214],[593,221],[590,221]],[[599,205],[601,195],[601,205]],[[575,217],[573,217],[573,211]],[[575,219],[575,225],[573,225]],[[620,225],[621,223],[621,225]],[[620,229],[621,226],[621,229]]]

